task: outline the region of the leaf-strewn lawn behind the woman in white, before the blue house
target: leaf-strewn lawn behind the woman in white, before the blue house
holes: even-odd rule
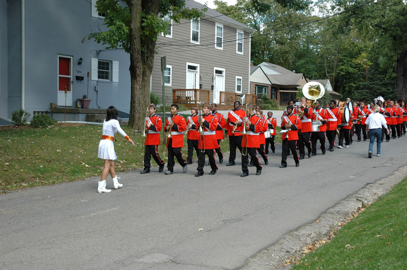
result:
[[[117,172],[143,167],[141,133],[122,125],[132,138],[132,147],[116,133],[114,149],[118,155]],[[98,156],[102,125],[63,124],[48,128],[5,127],[0,130],[0,191],[15,190],[61,182],[86,179],[101,174],[103,160]],[[279,136],[279,134],[277,135]],[[281,138],[281,136],[280,136]],[[276,138],[276,142],[281,139]],[[184,140],[184,158],[187,155]],[[162,156],[162,146],[159,148]],[[221,142],[223,152],[229,152],[229,141]],[[196,159],[196,153],[194,153]],[[152,159],[152,165],[156,165]]]

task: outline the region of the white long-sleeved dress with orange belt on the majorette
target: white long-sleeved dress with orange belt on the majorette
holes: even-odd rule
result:
[[[118,157],[114,152],[114,133],[119,132],[123,137],[128,137],[126,132],[120,127],[119,121],[110,119],[103,121],[102,140],[99,142],[98,158],[115,160]],[[105,138],[105,139],[104,139]],[[127,138],[126,138],[127,139]]]

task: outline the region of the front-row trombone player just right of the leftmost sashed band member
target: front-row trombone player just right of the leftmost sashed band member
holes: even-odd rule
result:
[[[258,162],[258,157],[256,156],[257,148],[260,147],[258,134],[261,130],[261,118],[258,117],[254,111],[254,105],[250,104],[249,107],[249,115],[245,118],[246,130],[247,134],[243,135],[242,138],[242,171],[243,174],[240,177],[246,177],[249,175],[248,165],[249,165],[249,157],[250,155],[251,160],[256,166],[256,175],[261,174],[261,165]]]

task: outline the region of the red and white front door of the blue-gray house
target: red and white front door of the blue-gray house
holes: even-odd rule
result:
[[[72,56],[58,55],[57,88],[56,104],[72,107]]]

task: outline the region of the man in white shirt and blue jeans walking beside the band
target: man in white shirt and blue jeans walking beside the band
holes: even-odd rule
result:
[[[382,125],[386,128],[387,134],[390,133],[389,128],[387,127],[386,119],[385,117],[380,114],[380,107],[379,106],[374,106],[374,111],[373,113],[369,114],[369,116],[366,119],[366,131],[369,131],[369,137],[370,137],[370,143],[369,143],[369,152],[368,152],[368,157],[372,157],[372,151],[373,151],[373,144],[374,144],[374,139],[376,139],[376,145],[377,145],[377,156],[381,156],[380,152],[380,146],[382,144]]]

